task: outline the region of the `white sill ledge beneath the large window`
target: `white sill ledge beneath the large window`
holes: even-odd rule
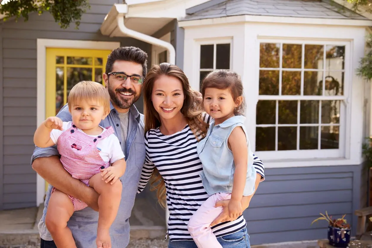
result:
[[[362,158],[311,158],[311,159],[288,159],[288,160],[265,160],[262,158],[266,168],[286,168],[286,167],[314,167],[314,166],[335,166],[335,165],[359,165],[363,162]]]

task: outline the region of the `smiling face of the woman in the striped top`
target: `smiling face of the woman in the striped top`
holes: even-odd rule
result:
[[[178,78],[161,75],[154,81],[151,100],[161,120],[179,118],[184,99],[182,83]]]

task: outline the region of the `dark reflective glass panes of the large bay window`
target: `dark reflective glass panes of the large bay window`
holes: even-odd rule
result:
[[[344,61],[345,46],[260,44],[256,151],[339,149]]]

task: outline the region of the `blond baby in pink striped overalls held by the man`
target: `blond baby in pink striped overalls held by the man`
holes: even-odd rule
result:
[[[82,81],[71,89],[68,109],[72,122],[49,117],[36,129],[34,143],[39,147],[57,145],[68,173],[100,194],[96,244],[110,248],[109,228],[121,200],[118,178],[124,174],[126,164],[113,128],[99,126],[110,112],[109,93],[102,84]],[[76,247],[67,222],[74,211],[87,204],[55,188],[52,192],[45,224],[57,247]]]

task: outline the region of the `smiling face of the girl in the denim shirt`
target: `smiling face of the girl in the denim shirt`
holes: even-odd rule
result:
[[[228,88],[205,88],[203,104],[205,111],[215,119],[215,124],[218,125],[234,116],[234,109],[240,105],[242,97],[239,96],[237,100],[235,102],[232,99]]]

